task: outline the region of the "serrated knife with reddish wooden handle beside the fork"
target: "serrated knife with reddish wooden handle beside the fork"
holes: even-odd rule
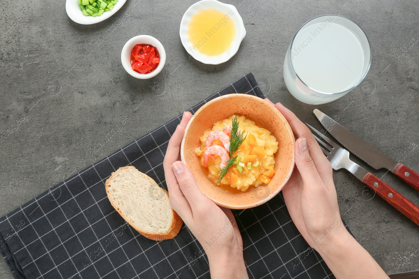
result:
[[[345,146],[349,151],[355,154],[357,157],[365,161],[367,164],[372,166],[374,169],[385,168],[396,174],[407,184],[413,186],[416,190],[419,190],[419,174],[407,166],[395,161],[385,155],[383,152],[375,148],[374,146],[366,143],[361,138],[356,136],[354,133],[348,131],[342,125],[337,123],[320,110],[315,109],[313,113],[316,115],[318,120],[321,122],[324,128]]]

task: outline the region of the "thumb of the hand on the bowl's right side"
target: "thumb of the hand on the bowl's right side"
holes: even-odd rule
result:
[[[307,139],[298,138],[297,141],[295,141],[295,147],[295,164],[297,165],[298,171],[300,171],[304,185],[313,184],[313,182],[322,183],[313,159],[311,159]]]

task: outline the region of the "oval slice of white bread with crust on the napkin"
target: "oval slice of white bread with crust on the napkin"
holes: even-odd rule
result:
[[[169,205],[169,194],[134,166],[113,172],[105,183],[112,206],[135,230],[147,238],[174,238],[182,219]]]

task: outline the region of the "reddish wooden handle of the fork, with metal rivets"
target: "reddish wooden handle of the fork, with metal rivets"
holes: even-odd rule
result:
[[[365,175],[362,182],[372,191],[377,193],[377,195],[382,197],[386,202],[406,215],[407,218],[419,225],[419,207],[417,205],[403,197],[395,189],[388,186],[388,184],[383,182],[383,180],[379,179],[370,172]]]

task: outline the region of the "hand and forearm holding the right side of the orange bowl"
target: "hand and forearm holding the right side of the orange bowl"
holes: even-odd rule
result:
[[[266,101],[270,102],[268,99]],[[292,221],[338,279],[385,279],[387,274],[344,227],[332,167],[306,125],[280,103],[295,141],[295,165],[282,189]]]

